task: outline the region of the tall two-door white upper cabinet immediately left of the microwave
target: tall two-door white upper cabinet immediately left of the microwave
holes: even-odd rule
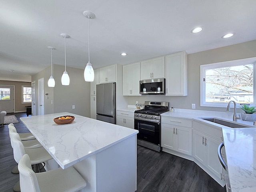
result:
[[[123,66],[123,95],[140,95],[140,62]]]

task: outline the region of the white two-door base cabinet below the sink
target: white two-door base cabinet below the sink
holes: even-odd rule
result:
[[[218,146],[223,140],[222,131],[199,122],[193,123],[193,129],[193,154],[196,164],[212,178],[224,184],[223,174],[227,173],[224,172],[217,153]]]

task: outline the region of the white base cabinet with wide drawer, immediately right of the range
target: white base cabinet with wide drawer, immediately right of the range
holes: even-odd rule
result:
[[[192,120],[161,118],[161,146],[192,156]],[[169,151],[165,151],[169,152]]]

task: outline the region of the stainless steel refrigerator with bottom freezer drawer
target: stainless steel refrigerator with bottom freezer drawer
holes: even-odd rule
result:
[[[96,119],[116,124],[116,83],[96,85]]]

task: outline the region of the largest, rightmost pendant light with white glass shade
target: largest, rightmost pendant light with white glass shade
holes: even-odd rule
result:
[[[84,16],[88,18],[88,63],[84,69],[84,80],[92,82],[94,81],[94,70],[92,64],[90,63],[90,19],[94,19],[95,15],[90,11],[84,11]]]

